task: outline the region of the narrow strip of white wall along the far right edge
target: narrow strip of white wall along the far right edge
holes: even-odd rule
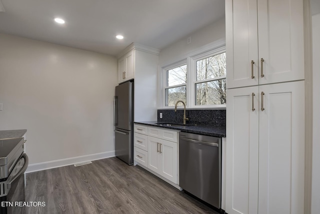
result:
[[[320,6],[320,2],[318,2]],[[320,213],[320,13],[312,16],[313,50],[313,140],[312,140],[312,201],[311,213]]]

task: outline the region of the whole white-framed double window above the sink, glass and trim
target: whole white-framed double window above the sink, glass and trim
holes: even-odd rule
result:
[[[162,107],[182,100],[187,108],[225,108],[225,58],[225,40],[218,40],[163,66]]]

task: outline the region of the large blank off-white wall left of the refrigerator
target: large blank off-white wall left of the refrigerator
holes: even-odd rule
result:
[[[29,166],[53,162],[39,169],[113,156],[116,71],[111,56],[0,34],[0,130],[27,129]]]

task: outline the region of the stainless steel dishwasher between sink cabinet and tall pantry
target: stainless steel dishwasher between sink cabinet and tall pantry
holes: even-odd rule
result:
[[[221,138],[179,133],[179,186],[221,208]]]

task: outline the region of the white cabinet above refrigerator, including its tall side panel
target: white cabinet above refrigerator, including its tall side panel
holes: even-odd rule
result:
[[[132,43],[118,55],[118,83],[134,79],[134,121],[156,120],[159,50]]]

